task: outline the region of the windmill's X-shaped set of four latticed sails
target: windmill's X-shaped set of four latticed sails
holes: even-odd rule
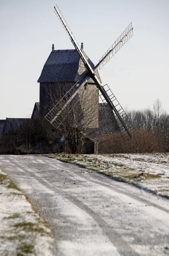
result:
[[[107,50],[107,52],[100,58],[98,64],[95,67],[91,67],[89,61],[87,60],[84,52],[83,52],[83,44],[81,47],[77,43],[71,29],[69,28],[66,20],[64,19],[60,9],[56,5],[54,7],[54,12],[57,15],[60,23],[63,25],[67,34],[69,35],[72,44],[74,45],[76,51],[78,52],[80,59],[83,61],[86,69],[88,70],[88,74],[82,79],[82,81],[77,81],[70,90],[68,90],[65,95],[57,102],[57,104],[46,114],[45,118],[55,127],[58,128],[61,125],[60,122],[60,114],[62,111],[66,111],[70,102],[74,102],[73,108],[77,104],[80,99],[74,100],[77,94],[80,92],[81,88],[89,81],[89,79],[93,79],[98,90],[100,98],[103,104],[108,105],[114,114],[119,131],[124,138],[124,140],[132,138],[137,131],[135,130],[132,122],[127,116],[126,112],[121,107],[120,103],[117,101],[115,95],[112,93],[112,90],[109,88],[107,84],[102,86],[99,78],[97,77],[97,70],[101,69],[113,55],[124,45],[127,41],[133,36],[133,27],[132,23],[127,26],[127,28],[123,31],[123,33],[117,38],[114,44]]]

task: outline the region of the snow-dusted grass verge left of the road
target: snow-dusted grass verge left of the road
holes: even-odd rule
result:
[[[47,222],[0,169],[0,256],[52,256],[52,242]]]

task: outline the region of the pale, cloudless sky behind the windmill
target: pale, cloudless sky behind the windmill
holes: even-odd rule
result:
[[[169,112],[169,0],[0,0],[0,119],[30,117],[52,44],[74,49],[54,14],[58,5],[97,64],[132,21],[134,36],[100,70],[124,108]]]

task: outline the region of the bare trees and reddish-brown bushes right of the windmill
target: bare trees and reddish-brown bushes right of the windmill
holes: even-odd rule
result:
[[[163,109],[160,99],[153,108],[126,111],[137,129],[132,140],[123,141],[120,134],[112,134],[100,140],[100,153],[145,153],[169,151],[169,113]]]

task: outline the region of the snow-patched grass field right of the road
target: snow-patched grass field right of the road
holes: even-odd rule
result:
[[[51,157],[76,163],[117,180],[169,197],[169,153],[151,154],[57,154]]]

